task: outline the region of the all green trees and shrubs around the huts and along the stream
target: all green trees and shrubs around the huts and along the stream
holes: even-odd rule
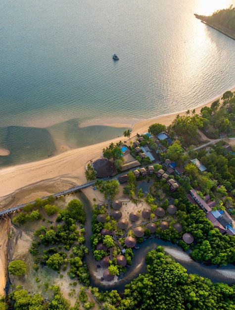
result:
[[[235,96],[232,92],[226,92],[221,101],[213,102],[210,107],[203,107],[200,112],[200,115],[193,111],[191,115],[190,111],[186,115],[178,115],[168,128],[153,124],[148,130],[151,135],[136,137],[140,146],[147,146],[156,154],[154,159],[158,160],[158,163],[153,164],[149,157],[147,160],[143,160],[146,157],[140,158],[141,168],[146,168],[146,174],[140,173],[139,177],[134,174],[141,172],[140,167],[137,171],[127,171],[127,183],[122,186],[127,200],[136,206],[142,204],[149,211],[147,219],[142,217],[141,224],[136,225],[134,220],[126,229],[120,228],[118,219],[115,218],[118,212],[111,213],[112,202],[115,202],[119,194],[120,184],[116,178],[95,181],[94,190],[103,195],[104,202],[96,204],[94,199],[92,251],[97,265],[107,259],[106,267],[111,276],[122,277],[127,268],[132,268],[135,250],[134,246],[125,242],[126,237],[135,240],[137,247],[146,238],[153,237],[178,243],[185,251],[190,249],[191,258],[207,264],[220,266],[235,262],[235,236],[222,234],[205,216],[205,212],[188,200],[188,193],[195,189],[202,199],[213,202],[213,211],[226,211],[232,217],[235,214],[235,150],[228,145],[229,140],[225,140],[225,137],[235,136]],[[161,134],[159,131],[162,129],[168,138],[158,140],[155,134]],[[206,139],[213,141],[200,148],[208,141]],[[130,143],[127,149],[134,159],[139,159],[135,142]],[[121,146],[121,143],[116,146],[110,144],[103,153],[114,152],[109,158],[112,160],[123,158]],[[206,167],[205,170],[201,171],[191,161],[195,158]],[[153,168],[151,173],[150,163]],[[172,167],[182,167],[184,171],[176,173]],[[88,170],[90,179],[95,180],[92,162],[89,163]],[[168,177],[162,178],[159,171]],[[89,179],[87,174],[86,176]],[[179,185],[176,190],[170,187],[167,181],[170,178]],[[142,192],[141,181],[149,184],[147,194]],[[174,207],[175,211],[170,213],[169,207]],[[141,211],[139,209],[135,216],[140,218]],[[182,265],[165,255],[161,247],[147,254],[146,273],[126,285],[122,294],[115,290],[99,292],[97,288],[89,287],[90,275],[84,259],[88,253],[85,246],[85,221],[81,201],[70,199],[61,207],[60,201],[52,196],[36,199],[34,204],[26,205],[13,217],[12,222],[18,227],[38,225],[38,228],[33,233],[34,240],[30,248],[34,265],[30,266],[24,259],[12,260],[8,266],[11,277],[22,279],[23,283],[28,268],[36,274],[40,267],[47,268],[60,274],[61,279],[66,275],[73,281],[69,296],[76,299],[71,307],[60,288],[48,283],[44,283],[47,298],[44,293],[31,294],[21,286],[15,286],[8,296],[8,303],[14,309],[79,310],[96,306],[103,310],[234,309],[235,286],[212,283],[205,277],[188,274]],[[147,226],[148,223],[155,225],[154,232],[147,228],[150,227]],[[178,231],[176,224],[180,224],[182,229]],[[139,226],[139,232],[143,234],[135,235],[135,226]],[[192,241],[186,242],[184,234],[192,236]],[[120,257],[125,259],[125,265],[118,261]],[[40,278],[36,276],[35,281],[40,282]],[[84,287],[80,285],[77,289],[78,283]],[[0,301],[0,307],[7,309],[8,306]]]

